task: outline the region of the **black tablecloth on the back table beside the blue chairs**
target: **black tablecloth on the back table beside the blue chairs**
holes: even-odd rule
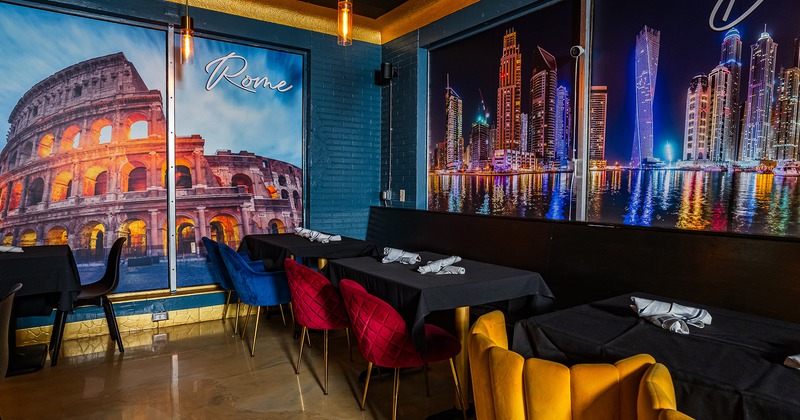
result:
[[[275,235],[247,235],[244,237],[239,251],[246,251],[253,260],[272,260],[272,267],[283,267],[283,260],[290,255],[298,258],[334,258],[360,257],[375,255],[375,245],[360,239],[342,236],[341,241],[327,244],[310,241],[308,238],[284,233]]]

